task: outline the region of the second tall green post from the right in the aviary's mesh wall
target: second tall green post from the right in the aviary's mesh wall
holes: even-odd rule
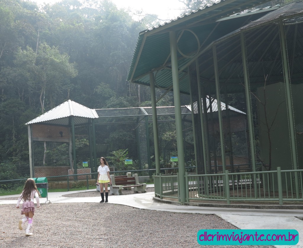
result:
[[[251,111],[251,96],[250,96],[250,86],[249,86],[249,77],[248,77],[248,69],[247,69],[245,37],[244,37],[243,32],[241,33],[241,51],[242,51],[244,82],[245,82],[245,94],[246,94],[247,117],[248,117],[248,132],[249,132],[249,143],[250,143],[250,151],[251,151],[251,164],[252,164],[252,171],[256,172],[257,166],[256,166],[256,152],[255,152],[255,142],[254,142],[254,126],[253,126],[252,111]],[[255,190],[255,197],[257,197],[258,191],[257,191],[256,175],[254,175],[254,190]]]

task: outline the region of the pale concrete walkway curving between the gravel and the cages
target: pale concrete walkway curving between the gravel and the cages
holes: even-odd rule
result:
[[[153,185],[149,185],[150,187]],[[48,192],[48,200],[51,203],[77,203],[77,202],[97,202],[100,201],[98,197],[64,197],[66,194],[95,191],[82,190],[70,192]],[[1,204],[16,204],[19,195],[0,196]],[[295,229],[299,233],[299,243],[294,246],[276,246],[279,248],[296,247],[303,248],[303,210],[296,209],[242,209],[242,208],[210,208],[210,207],[195,207],[195,206],[181,206],[171,205],[162,202],[153,201],[154,192],[143,194],[130,195],[109,195],[109,204],[121,204],[134,208],[170,211],[179,213],[199,213],[199,214],[216,214],[238,227],[239,229]],[[15,197],[15,200],[5,200],[5,198]],[[46,198],[41,198],[40,202],[43,204]],[[297,218],[299,217],[299,218]]]

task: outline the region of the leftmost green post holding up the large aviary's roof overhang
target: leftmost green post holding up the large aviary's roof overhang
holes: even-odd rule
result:
[[[154,73],[149,74],[149,83],[151,86],[151,109],[152,109],[152,123],[153,123],[153,130],[154,130],[156,175],[159,175],[161,170],[160,170],[160,151],[159,151],[158,120],[157,120]]]

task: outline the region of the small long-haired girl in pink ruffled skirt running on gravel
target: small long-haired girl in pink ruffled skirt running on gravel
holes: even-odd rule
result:
[[[22,230],[22,225],[28,221],[26,230],[25,230],[25,236],[32,236],[33,234],[30,232],[30,229],[33,224],[33,217],[35,212],[35,204],[34,204],[34,197],[36,197],[37,201],[37,208],[40,207],[40,201],[39,201],[39,194],[37,190],[37,186],[35,184],[35,180],[32,178],[29,178],[26,180],[23,191],[21,195],[18,198],[17,206],[16,208],[19,208],[20,202],[23,199],[22,203],[22,209],[21,214],[24,214],[25,217],[23,217],[19,221],[19,229]]]

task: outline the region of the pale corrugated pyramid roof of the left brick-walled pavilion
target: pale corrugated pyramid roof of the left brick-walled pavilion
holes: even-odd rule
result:
[[[94,109],[87,108],[75,101],[68,100],[58,105],[57,107],[51,109],[50,111],[47,111],[46,113],[38,116],[32,121],[29,121],[25,125],[40,122],[47,122],[48,124],[68,125],[69,116],[78,117],[77,119],[75,119],[75,124],[82,123],[81,119],[79,118],[85,118],[83,119],[83,123],[87,122],[87,118],[98,118],[98,114]]]

